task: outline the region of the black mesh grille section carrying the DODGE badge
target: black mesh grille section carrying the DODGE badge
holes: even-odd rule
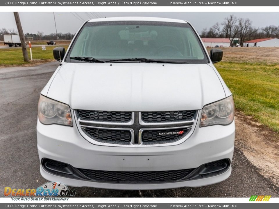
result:
[[[142,131],[142,142],[168,142],[176,141],[188,134],[190,129],[188,128],[178,128],[178,129],[146,129]]]

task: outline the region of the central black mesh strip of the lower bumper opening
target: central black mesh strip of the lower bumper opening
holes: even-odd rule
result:
[[[170,170],[170,171],[102,171],[78,169],[87,178],[94,181],[114,182],[114,183],[151,183],[160,181],[178,181],[185,178],[194,169]]]

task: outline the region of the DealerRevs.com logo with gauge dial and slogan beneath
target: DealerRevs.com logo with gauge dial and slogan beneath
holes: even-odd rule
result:
[[[63,183],[49,182],[36,189],[5,187],[4,195],[11,195],[13,200],[42,200],[42,198],[38,199],[37,197],[74,197],[76,195],[76,190],[69,190]]]

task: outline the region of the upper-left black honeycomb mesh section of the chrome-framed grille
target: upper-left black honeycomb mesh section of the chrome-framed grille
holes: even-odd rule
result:
[[[132,112],[119,111],[94,111],[77,110],[78,118],[81,120],[93,120],[103,122],[128,122],[132,118]]]

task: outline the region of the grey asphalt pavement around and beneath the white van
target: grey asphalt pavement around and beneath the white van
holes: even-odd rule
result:
[[[33,67],[0,68],[0,197],[6,186],[37,188],[40,175],[36,146],[37,102],[58,62]],[[75,188],[77,197],[279,197],[278,187],[264,178],[244,154],[235,149],[232,175],[201,188],[167,190],[106,190]]]

